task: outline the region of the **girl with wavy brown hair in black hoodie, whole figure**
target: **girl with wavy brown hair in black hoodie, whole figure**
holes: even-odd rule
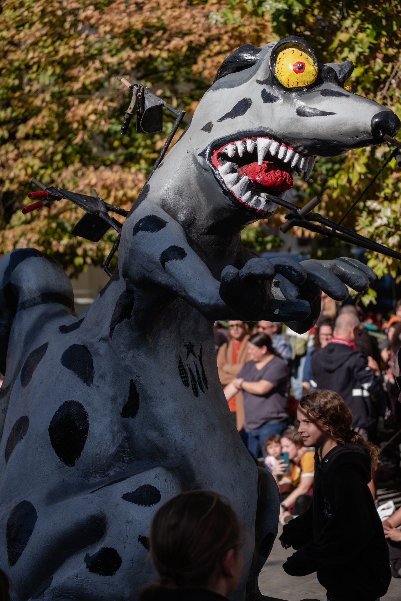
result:
[[[387,593],[390,560],[368,483],[380,450],[352,429],[352,415],[331,390],[299,401],[298,432],[314,447],[312,503],[283,528],[281,545],[295,553],[284,563],[291,576],[316,572],[328,601],[376,601]]]

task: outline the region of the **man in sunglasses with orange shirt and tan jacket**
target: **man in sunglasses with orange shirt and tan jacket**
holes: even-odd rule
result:
[[[228,342],[222,344],[217,353],[217,367],[222,386],[231,384],[246,361],[249,361],[248,324],[239,320],[231,320],[228,322],[228,332],[230,336]],[[237,429],[241,430],[244,418],[242,392],[237,392],[228,400],[228,407]]]

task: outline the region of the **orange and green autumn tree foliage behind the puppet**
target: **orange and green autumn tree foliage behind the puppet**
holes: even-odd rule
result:
[[[188,123],[219,64],[240,44],[261,46],[286,35],[310,41],[320,61],[351,59],[354,91],[401,117],[401,11],[396,2],[295,0],[4,0],[0,13],[0,249],[34,246],[76,275],[102,264],[114,240],[71,235],[82,216],[67,202],[23,216],[32,177],[129,209],[145,182],[172,119],[149,136],[120,135],[129,93],[117,77],[141,81]],[[180,135],[177,132],[176,139]],[[326,215],[341,215],[388,153],[387,145],[319,159],[300,200],[319,194]],[[399,172],[394,161],[347,225],[399,246]],[[277,221],[280,217],[276,218]],[[261,248],[265,236],[248,230]],[[378,273],[397,261],[373,257]]]

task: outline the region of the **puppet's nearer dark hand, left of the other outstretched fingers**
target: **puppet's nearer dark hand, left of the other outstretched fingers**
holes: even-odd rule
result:
[[[276,275],[286,278],[286,294],[274,294]],[[232,311],[233,319],[304,320],[310,314],[309,302],[298,299],[299,286],[307,271],[290,258],[252,258],[242,269],[228,265],[221,272],[220,296]],[[285,297],[284,297],[285,296]]]

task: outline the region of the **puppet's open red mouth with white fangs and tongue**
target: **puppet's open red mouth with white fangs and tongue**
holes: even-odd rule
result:
[[[214,150],[211,160],[240,203],[266,212],[271,210],[266,194],[283,198],[296,173],[304,173],[307,180],[316,156],[301,156],[293,147],[267,136],[249,136]]]

